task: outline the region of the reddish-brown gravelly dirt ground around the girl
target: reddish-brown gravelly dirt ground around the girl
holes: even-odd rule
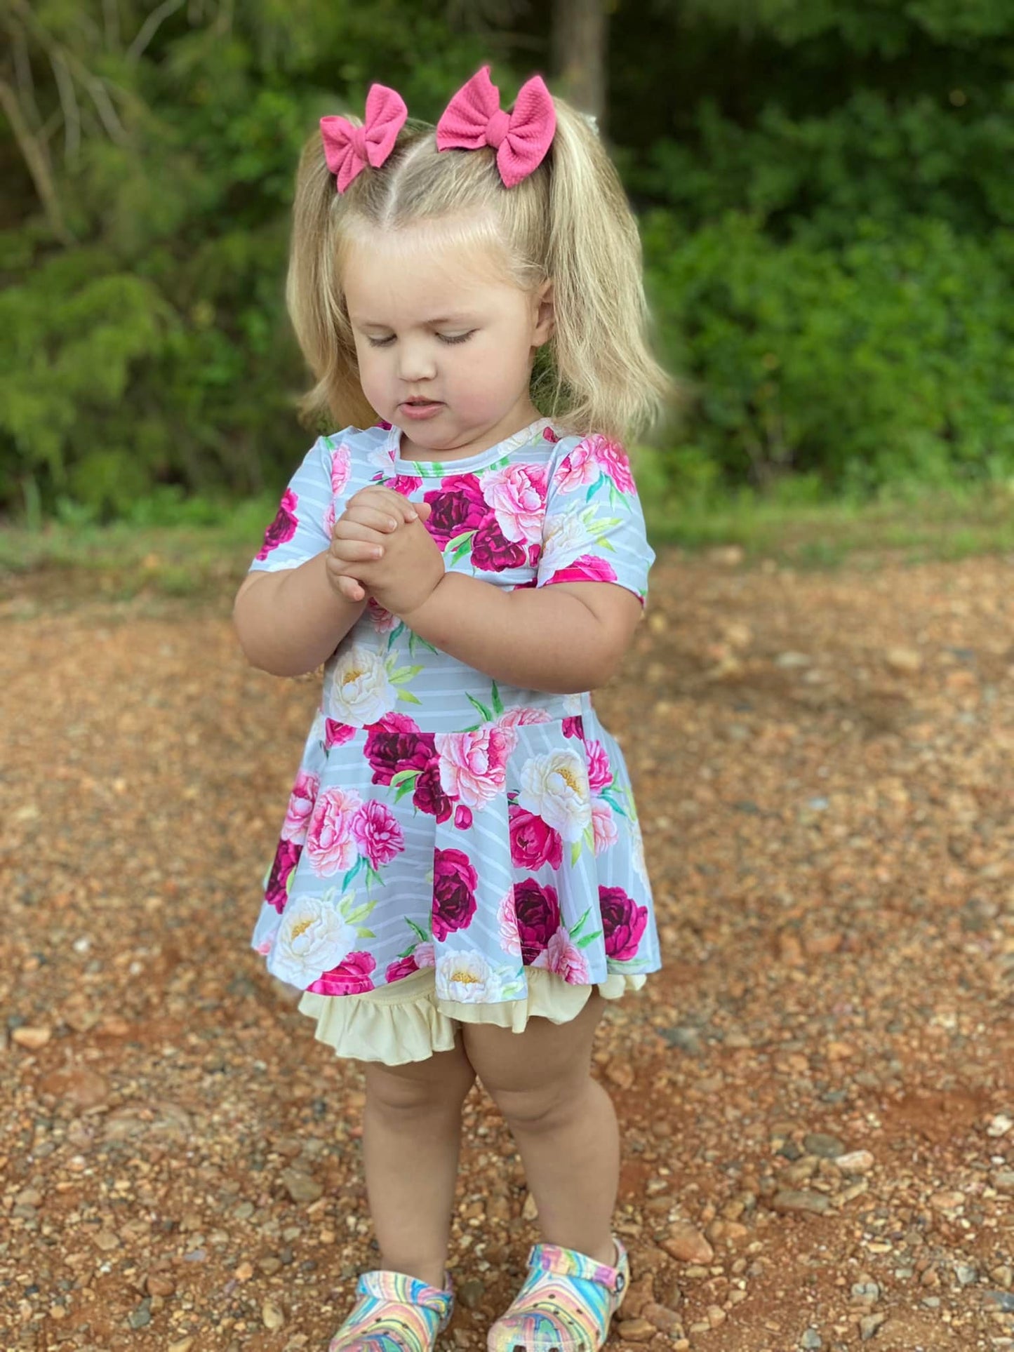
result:
[[[319,684],[246,665],[233,591],[0,606],[4,1349],[323,1349],[373,1265],[361,1072],[247,949]],[[667,963],[599,1040],[612,1347],[1014,1348],[1014,558],[662,552],[596,704]],[[446,1349],[525,1202],[475,1090]]]

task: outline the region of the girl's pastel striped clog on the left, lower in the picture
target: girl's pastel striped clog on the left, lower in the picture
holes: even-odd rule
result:
[[[364,1272],[358,1297],[327,1352],[431,1352],[454,1309],[441,1291],[404,1272]]]

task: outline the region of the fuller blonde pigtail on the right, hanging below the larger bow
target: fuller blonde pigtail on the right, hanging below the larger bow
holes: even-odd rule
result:
[[[561,99],[553,104],[546,270],[556,407],[548,411],[579,433],[637,437],[676,396],[648,345],[637,220],[589,120]]]

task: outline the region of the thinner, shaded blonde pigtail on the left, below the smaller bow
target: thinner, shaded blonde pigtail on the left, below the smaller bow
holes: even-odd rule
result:
[[[353,120],[353,119],[350,119]],[[346,195],[347,197],[349,195]],[[347,201],[335,192],[319,131],[303,147],[296,173],[285,303],[316,384],[297,400],[304,422],[369,427],[376,414],[360,387],[356,343],[338,279],[339,216]]]

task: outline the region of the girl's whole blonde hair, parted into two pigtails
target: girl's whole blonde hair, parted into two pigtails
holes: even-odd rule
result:
[[[320,134],[307,141],[285,299],[316,377],[300,399],[308,420],[376,420],[360,388],[341,283],[349,241],[452,219],[470,238],[498,243],[523,289],[552,283],[553,337],[531,380],[541,412],[573,433],[619,439],[658,420],[675,385],[648,345],[637,222],[591,123],[564,100],[553,104],[549,153],[512,188],[504,188],[491,147],[439,151],[429,123],[407,122],[384,165],[361,170],[343,193],[335,192]]]

